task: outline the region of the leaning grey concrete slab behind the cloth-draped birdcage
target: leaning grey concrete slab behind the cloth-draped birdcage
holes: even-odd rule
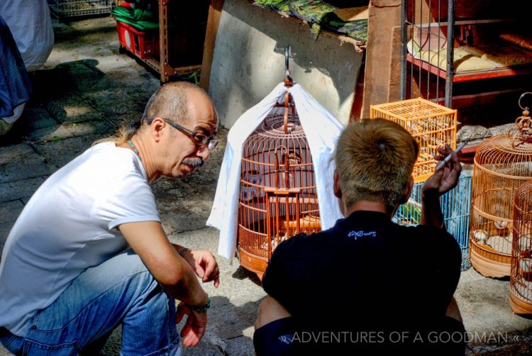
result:
[[[316,100],[346,123],[362,53],[334,35],[314,40],[309,26],[249,0],[226,0],[216,35],[209,94],[221,124],[231,128],[242,113],[284,78],[284,47],[292,46],[290,72]]]

